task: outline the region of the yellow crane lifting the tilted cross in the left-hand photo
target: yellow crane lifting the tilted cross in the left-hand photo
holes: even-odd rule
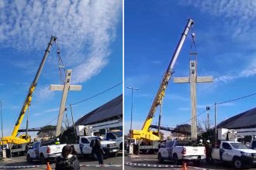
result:
[[[22,109],[19,113],[19,117],[18,117],[18,120],[16,121],[16,124],[13,128],[13,131],[12,131],[12,135],[11,136],[6,136],[4,138],[1,139],[1,142],[0,144],[15,144],[15,145],[19,145],[19,144],[26,144],[26,143],[29,143],[31,141],[31,138],[29,135],[27,135],[27,132],[26,134],[22,134],[20,135],[19,137],[17,137],[17,133],[18,133],[18,130],[19,130],[19,127],[20,127],[20,124],[22,123],[22,120],[23,120],[23,117],[26,113],[26,110],[28,109],[30,103],[31,103],[31,100],[32,100],[32,94],[36,88],[36,84],[37,84],[37,80],[39,79],[39,76],[40,76],[40,73],[41,71],[43,70],[43,65],[47,59],[47,56],[48,54],[50,53],[50,48],[53,44],[53,42],[56,42],[57,40],[57,37],[55,36],[51,36],[50,38],[50,42],[47,46],[47,49],[43,55],[43,59],[40,63],[40,66],[37,70],[37,73],[36,73],[36,76],[33,80],[33,82],[31,83],[30,87],[29,87],[29,92],[28,94],[26,95],[26,99],[23,103],[23,106],[22,106]]]

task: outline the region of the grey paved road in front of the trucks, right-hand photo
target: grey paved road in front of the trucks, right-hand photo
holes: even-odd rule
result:
[[[157,155],[140,155],[138,156],[128,156],[126,155],[124,158],[124,162],[131,162],[131,163],[137,163],[137,164],[149,164],[149,165],[160,165],[157,161]],[[170,161],[165,161],[164,164],[162,165],[172,165],[172,162]],[[233,170],[234,168],[232,165],[229,164],[223,164],[222,162],[214,162],[214,164],[208,164],[205,161],[202,161],[202,163],[199,166],[193,165],[192,162],[189,162],[188,164],[188,169],[189,170],[194,170],[194,169],[226,169],[226,170]],[[138,166],[132,166],[132,165],[125,165],[125,169],[131,170],[134,168],[140,168],[140,169],[148,169],[144,167],[138,167]],[[150,168],[150,170],[159,170],[159,168]],[[174,170],[180,170],[182,168],[161,168],[161,169],[174,169]],[[247,168],[249,169],[249,168]],[[254,168],[250,169],[256,169],[256,166]]]

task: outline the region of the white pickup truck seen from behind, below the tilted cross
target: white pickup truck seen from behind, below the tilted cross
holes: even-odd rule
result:
[[[40,160],[42,164],[46,164],[47,160],[54,160],[61,155],[62,148],[66,144],[55,145],[53,140],[37,141],[33,143],[32,148],[29,148],[26,154],[26,162],[32,163],[33,160]]]

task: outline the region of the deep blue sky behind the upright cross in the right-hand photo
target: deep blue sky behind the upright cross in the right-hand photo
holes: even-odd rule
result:
[[[213,83],[197,85],[197,113],[215,102],[255,93],[256,30],[254,1],[125,1],[125,87],[133,95],[133,129],[144,123],[187,19],[195,21],[198,75]],[[189,76],[191,32],[175,64],[175,76]],[[164,97],[162,125],[189,121],[189,83],[174,84]],[[125,92],[125,127],[130,128],[131,91]],[[256,96],[217,106],[217,123],[255,107]],[[159,110],[155,114],[156,124]],[[214,110],[210,110],[214,123]],[[206,114],[198,117],[199,122]],[[190,123],[190,122],[188,122]]]

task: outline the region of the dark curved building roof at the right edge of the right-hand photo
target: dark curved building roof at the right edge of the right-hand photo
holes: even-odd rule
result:
[[[239,128],[256,128],[256,107],[244,111],[234,117],[230,117],[220,122],[217,128],[239,129]]]

